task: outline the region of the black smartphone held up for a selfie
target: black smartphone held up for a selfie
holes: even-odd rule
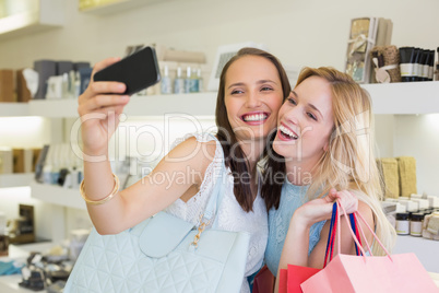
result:
[[[161,80],[154,48],[145,47],[95,73],[94,81],[118,81],[127,85],[123,94],[132,95]]]

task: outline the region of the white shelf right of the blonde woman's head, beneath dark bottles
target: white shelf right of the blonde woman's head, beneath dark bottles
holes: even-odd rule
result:
[[[373,102],[375,114],[439,113],[439,82],[364,84]]]

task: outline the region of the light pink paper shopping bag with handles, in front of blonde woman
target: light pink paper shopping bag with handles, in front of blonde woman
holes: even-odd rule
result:
[[[343,207],[341,208],[344,210]],[[361,214],[356,214],[363,220],[363,222],[366,223]],[[347,221],[347,218],[345,219]],[[376,244],[383,247],[377,235],[367,223],[366,226],[373,234]],[[360,230],[359,225],[358,227]],[[354,241],[356,241],[355,237]],[[388,256],[366,257],[364,249],[361,247],[360,249],[363,251],[363,256],[342,254],[335,256],[325,268],[301,283],[300,286],[302,291],[305,293],[439,292],[439,288],[436,286],[414,254],[390,256],[388,253]]]

